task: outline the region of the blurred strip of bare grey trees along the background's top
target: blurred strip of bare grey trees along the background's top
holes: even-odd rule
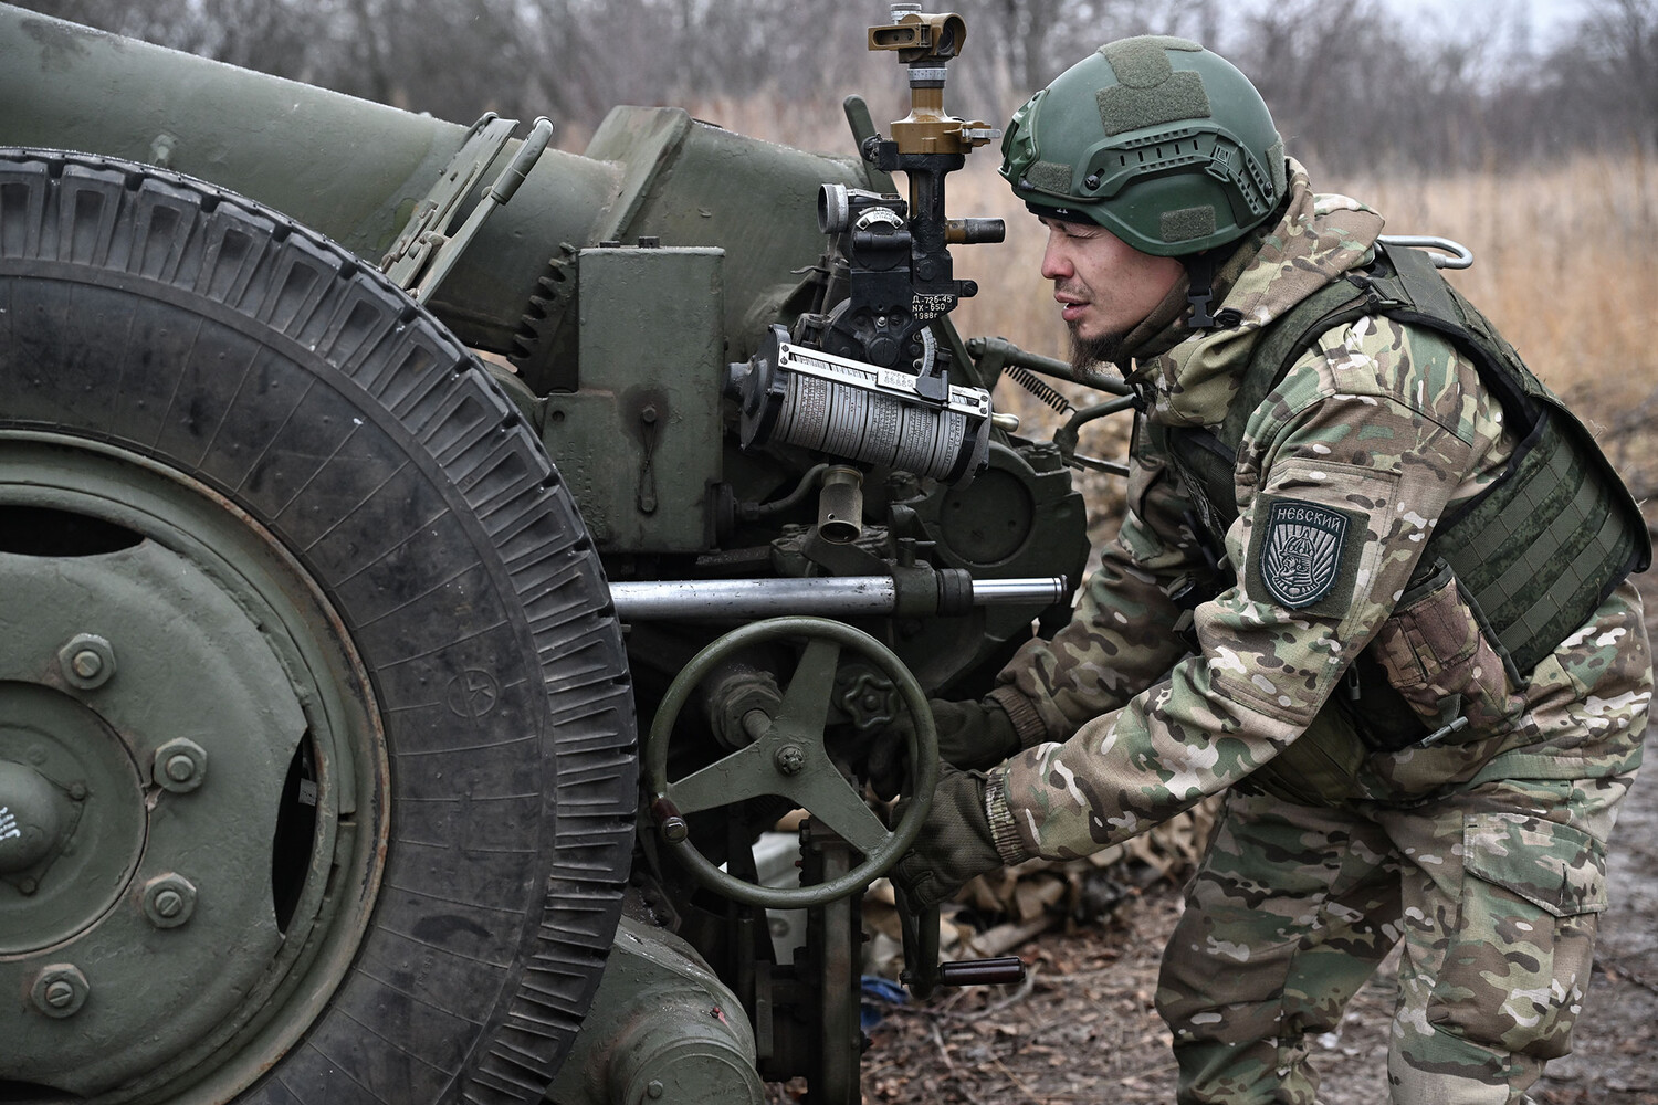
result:
[[[870,98],[902,111],[862,28],[882,0],[20,0],[48,15],[471,123],[549,114],[584,134],[618,103]],[[948,108],[1005,124],[1104,41],[1197,38],[1260,86],[1290,149],[1350,167],[1447,167],[1658,144],[1658,0],[1587,0],[1537,56],[1509,33],[1408,27],[1386,0],[960,0]],[[1500,28],[1499,28],[1500,30]]]

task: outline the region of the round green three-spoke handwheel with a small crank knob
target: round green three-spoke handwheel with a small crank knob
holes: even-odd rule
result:
[[[754,726],[754,742],[685,779],[668,779],[668,742],[673,726],[698,684],[744,648],[771,641],[804,639],[806,648],[783,691],[774,717],[744,719]],[[834,692],[841,651],[869,659],[892,679],[915,726],[910,737],[914,795],[904,818],[887,828],[852,789],[824,747],[824,722]],[[754,711],[758,714],[759,711]],[[753,714],[751,714],[753,717]],[[857,893],[899,861],[927,818],[938,779],[938,732],[927,709],[927,692],[897,656],[862,630],[827,618],[769,618],[726,633],[680,669],[657,709],[645,742],[645,785],[653,808],[678,817],[721,808],[759,795],[779,795],[839,833],[864,855],[857,866],[812,886],[758,886],[710,863],[688,837],[668,838],[670,847],[700,883],[756,906],[799,910],[821,906]],[[919,812],[917,812],[919,810]]]

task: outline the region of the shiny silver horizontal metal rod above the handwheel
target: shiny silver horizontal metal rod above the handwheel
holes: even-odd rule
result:
[[[1064,577],[975,580],[973,605],[1046,606],[1068,593]],[[658,580],[612,583],[623,621],[665,618],[773,618],[781,615],[889,615],[899,588],[887,575],[804,580]]]

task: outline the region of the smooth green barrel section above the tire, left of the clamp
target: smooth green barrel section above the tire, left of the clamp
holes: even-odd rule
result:
[[[376,257],[464,126],[0,7],[0,142],[159,164]],[[373,151],[371,157],[363,156]]]

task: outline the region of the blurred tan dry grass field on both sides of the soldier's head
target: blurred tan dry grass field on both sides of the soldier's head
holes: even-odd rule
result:
[[[1041,232],[995,174],[995,156],[952,177],[952,209],[1008,220],[1008,242],[958,252],[980,282],[957,311],[963,333],[1001,333],[1058,355],[1061,326],[1038,278]],[[1388,234],[1433,234],[1474,250],[1451,280],[1555,391],[1602,419],[1645,408],[1658,388],[1658,166],[1600,156],[1524,172],[1424,177],[1313,176],[1388,219]]]

